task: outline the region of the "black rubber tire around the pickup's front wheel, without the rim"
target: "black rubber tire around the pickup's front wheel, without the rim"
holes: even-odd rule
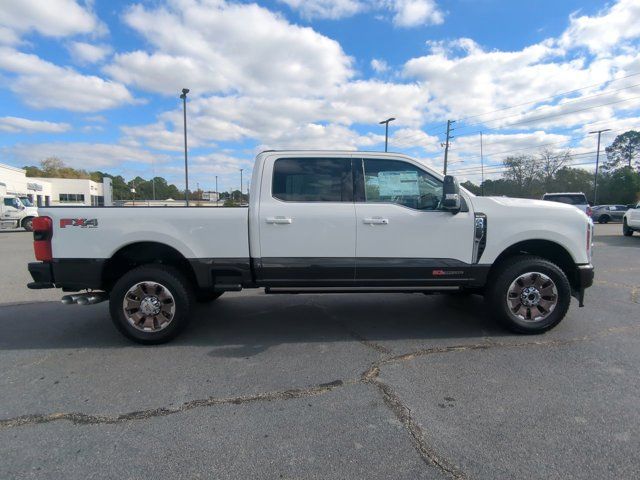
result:
[[[506,295],[511,283],[527,272],[540,272],[553,280],[558,290],[558,303],[551,314],[539,322],[525,322],[514,318],[509,312]],[[494,277],[491,293],[491,308],[496,319],[509,330],[517,333],[538,334],[555,327],[571,305],[571,285],[564,272],[555,264],[537,257],[524,257],[506,263]]]

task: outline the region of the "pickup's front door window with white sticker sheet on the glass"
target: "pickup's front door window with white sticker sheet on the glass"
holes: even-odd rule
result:
[[[442,182],[407,162],[364,160],[367,203],[397,203],[416,210],[438,210]]]

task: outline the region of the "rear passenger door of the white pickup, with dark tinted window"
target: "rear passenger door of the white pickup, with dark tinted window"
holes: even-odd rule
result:
[[[356,225],[350,157],[265,160],[259,208],[260,282],[353,283]]]

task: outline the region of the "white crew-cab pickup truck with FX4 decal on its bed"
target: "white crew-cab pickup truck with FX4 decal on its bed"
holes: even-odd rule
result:
[[[194,301],[244,288],[479,293],[506,327],[541,333],[593,283],[584,212],[476,197],[391,153],[266,151],[248,208],[53,207],[34,229],[29,288],[108,299],[140,343],[174,338]]]

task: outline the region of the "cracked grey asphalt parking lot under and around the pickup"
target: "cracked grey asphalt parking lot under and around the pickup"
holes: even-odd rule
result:
[[[225,294],[143,347],[0,232],[0,478],[640,478],[640,235],[542,336],[480,297]]]

